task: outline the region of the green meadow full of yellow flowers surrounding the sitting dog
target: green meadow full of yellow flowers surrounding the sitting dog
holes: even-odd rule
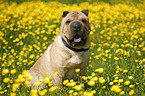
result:
[[[46,73],[35,84],[39,87],[44,81],[45,88],[28,87],[28,70],[59,34],[63,11],[82,9],[89,10],[91,25],[86,75],[79,76],[76,69],[78,81],[64,80],[59,89]],[[1,96],[144,96],[145,9],[103,2],[2,2],[0,66]]]

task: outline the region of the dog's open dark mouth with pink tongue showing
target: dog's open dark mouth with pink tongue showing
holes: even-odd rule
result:
[[[75,46],[84,46],[86,44],[87,39],[83,39],[82,37],[76,35],[71,40],[67,39],[67,42],[75,47]]]

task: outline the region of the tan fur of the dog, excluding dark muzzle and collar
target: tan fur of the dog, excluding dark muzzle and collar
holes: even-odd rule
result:
[[[85,75],[86,67],[89,61],[89,50],[83,52],[75,52],[68,49],[62,42],[61,38],[67,37],[72,38],[73,34],[70,33],[70,26],[66,25],[66,20],[78,20],[81,22],[80,18],[85,18],[88,20],[81,11],[69,12],[66,17],[62,19],[60,34],[55,37],[54,43],[52,43],[44,54],[36,61],[36,63],[29,70],[32,76],[32,81],[30,86],[34,86],[36,82],[39,81],[41,76],[45,77],[46,72],[52,75],[52,81],[58,87],[62,87],[63,80],[66,79],[77,79],[77,74],[75,72],[76,68],[80,68],[80,75]],[[84,46],[75,48],[89,48],[89,32],[90,26],[89,21],[87,21],[85,27],[85,37],[87,42]],[[66,40],[66,39],[65,39]],[[55,75],[58,72],[58,75]],[[43,86],[42,86],[43,87]]]

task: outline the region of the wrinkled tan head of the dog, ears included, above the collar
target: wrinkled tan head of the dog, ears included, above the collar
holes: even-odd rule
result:
[[[84,46],[90,33],[88,10],[64,11],[60,28],[61,37],[72,47]]]

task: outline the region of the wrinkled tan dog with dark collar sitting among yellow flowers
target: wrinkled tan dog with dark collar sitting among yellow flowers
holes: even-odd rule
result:
[[[76,68],[80,69],[81,76],[85,75],[91,30],[88,13],[88,10],[63,12],[60,34],[29,70],[32,76],[30,86],[35,86],[41,76],[46,77],[46,72],[50,73],[54,85],[59,88],[66,79],[77,80]]]

